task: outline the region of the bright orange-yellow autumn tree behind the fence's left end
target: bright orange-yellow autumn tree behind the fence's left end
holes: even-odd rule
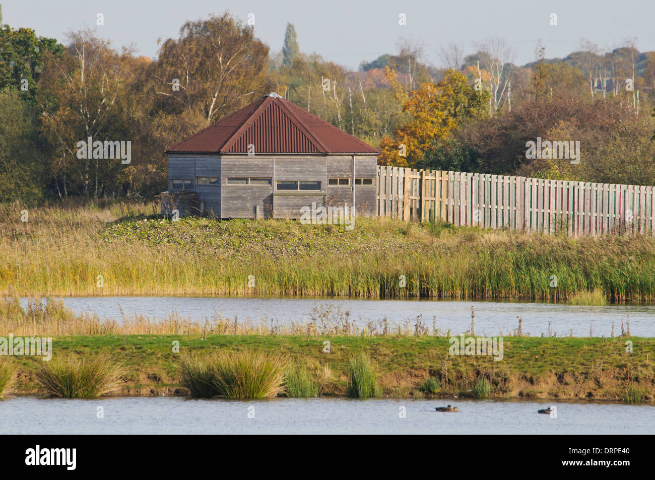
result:
[[[380,163],[413,167],[430,149],[452,138],[458,125],[466,119],[487,112],[489,92],[476,91],[466,75],[450,69],[437,84],[424,83],[419,90],[408,92],[398,81],[396,72],[386,67],[386,77],[409,114],[409,122],[394,130],[394,137],[384,136]]]

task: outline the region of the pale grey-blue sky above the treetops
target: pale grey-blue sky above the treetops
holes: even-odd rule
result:
[[[255,34],[280,50],[287,22],[295,25],[304,53],[356,69],[384,53],[395,53],[402,37],[424,43],[425,60],[440,66],[439,48],[460,43],[464,53],[496,35],[515,50],[514,63],[535,60],[538,41],[548,58],[576,50],[585,38],[612,49],[627,40],[640,51],[655,50],[655,0],[0,0],[3,24],[29,27],[37,35],[65,41],[65,32],[96,28],[115,46],[133,44],[157,56],[157,39],[178,37],[185,20],[229,10],[241,20],[254,14]],[[96,26],[102,13],[104,25]],[[407,25],[400,26],[404,13]],[[550,16],[557,14],[557,26]]]

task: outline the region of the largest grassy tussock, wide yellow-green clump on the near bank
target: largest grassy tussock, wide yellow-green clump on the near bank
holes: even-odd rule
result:
[[[194,397],[276,397],[284,391],[287,361],[263,350],[187,356],[181,361],[181,383]]]

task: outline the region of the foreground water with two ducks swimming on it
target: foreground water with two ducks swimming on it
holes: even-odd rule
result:
[[[460,413],[438,413],[452,403]],[[557,418],[538,409],[557,407]],[[104,418],[98,418],[102,407]],[[405,418],[400,418],[404,407]],[[254,413],[254,418],[248,414]],[[2,434],[651,434],[655,407],[612,403],[345,398],[0,400]]]

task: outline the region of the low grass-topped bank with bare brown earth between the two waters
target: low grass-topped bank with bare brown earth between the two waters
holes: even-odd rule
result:
[[[324,341],[331,353],[324,353]],[[180,353],[173,353],[179,341]],[[626,341],[632,352],[626,352]],[[434,397],[474,397],[479,380],[489,382],[489,398],[655,401],[655,339],[505,337],[503,360],[493,356],[451,356],[449,341],[438,337],[358,338],[266,335],[97,335],[58,337],[54,357],[107,356],[121,363],[124,384],[116,396],[187,396],[179,385],[185,352],[261,349],[307,365],[326,396],[346,394],[348,365],[364,352],[373,361],[381,393],[424,397],[422,385],[434,379]],[[20,368],[17,394],[39,395],[35,371],[43,360],[14,357]]]

